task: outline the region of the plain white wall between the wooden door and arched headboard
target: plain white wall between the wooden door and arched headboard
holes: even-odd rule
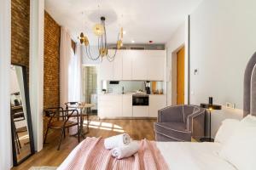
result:
[[[191,14],[191,103],[235,103],[212,114],[212,133],[227,117],[241,118],[243,74],[256,51],[255,0],[205,0]],[[199,74],[194,75],[194,69]]]

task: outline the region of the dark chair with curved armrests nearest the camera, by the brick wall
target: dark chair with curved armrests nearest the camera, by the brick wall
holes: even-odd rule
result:
[[[58,144],[57,150],[60,150],[61,141],[65,137],[65,130],[69,127],[78,126],[78,136],[80,142],[80,133],[79,133],[79,111],[78,110],[64,110],[62,107],[49,108],[44,110],[45,116],[49,117],[49,122],[47,124],[47,129],[44,136],[44,144],[47,139],[47,134],[49,128],[52,129],[61,129],[60,142]],[[70,121],[69,118],[72,116],[77,116],[77,122]]]

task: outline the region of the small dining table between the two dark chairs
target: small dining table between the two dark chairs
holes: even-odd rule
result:
[[[68,105],[69,108],[79,110],[80,125],[79,125],[79,134],[85,139],[85,134],[89,133],[89,124],[90,124],[90,114],[91,108],[94,107],[94,104],[89,104],[86,102],[78,102],[76,105]],[[84,116],[86,116],[86,126],[87,131],[84,132]]]

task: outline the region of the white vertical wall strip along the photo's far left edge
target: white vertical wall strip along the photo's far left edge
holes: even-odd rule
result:
[[[11,0],[0,5],[0,169],[12,167],[10,127]]]

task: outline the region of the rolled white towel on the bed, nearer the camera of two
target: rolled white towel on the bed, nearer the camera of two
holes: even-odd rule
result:
[[[137,152],[137,150],[139,150],[138,142],[132,141],[128,145],[124,145],[124,146],[114,148],[111,151],[111,154],[112,154],[112,156],[114,156],[118,159],[122,159],[122,158],[125,158],[125,157],[133,156]]]

